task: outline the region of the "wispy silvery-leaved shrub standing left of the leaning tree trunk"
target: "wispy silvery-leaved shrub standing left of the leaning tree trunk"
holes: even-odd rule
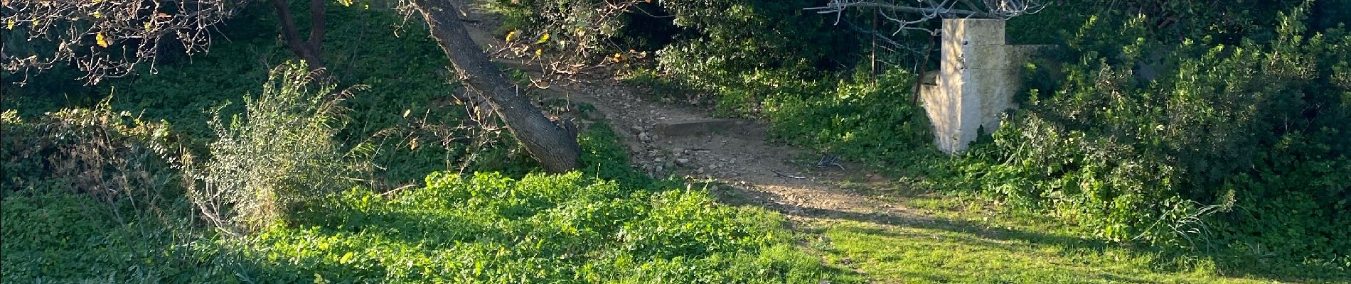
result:
[[[365,171],[332,139],[350,93],[313,86],[315,77],[303,63],[278,66],[261,94],[245,96],[245,113],[224,122],[215,110],[209,160],[184,157],[188,197],[208,222],[228,233],[266,227]]]

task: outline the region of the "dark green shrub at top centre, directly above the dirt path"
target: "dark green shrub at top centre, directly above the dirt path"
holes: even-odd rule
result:
[[[857,36],[802,8],[823,1],[663,3],[685,30],[657,52],[658,70],[712,93],[719,110],[755,116],[766,98],[812,94],[816,79],[858,61]],[[765,92],[770,90],[770,92]],[[801,93],[794,93],[801,92]]]

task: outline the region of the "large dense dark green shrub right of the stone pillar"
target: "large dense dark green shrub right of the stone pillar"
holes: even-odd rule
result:
[[[1336,214],[1351,203],[1351,35],[1306,31],[1308,7],[1235,46],[1158,42],[1146,16],[1090,17],[1067,44],[1081,59],[1029,73],[1063,77],[971,149],[959,186],[1106,240],[1240,262],[1351,254],[1351,218]]]

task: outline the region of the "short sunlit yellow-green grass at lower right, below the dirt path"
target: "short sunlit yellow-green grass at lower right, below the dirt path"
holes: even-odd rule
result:
[[[925,217],[815,222],[827,262],[888,283],[1344,283],[1346,273],[1292,268],[1281,277],[1225,276],[1216,262],[1078,237],[1078,229],[979,197],[904,202]]]

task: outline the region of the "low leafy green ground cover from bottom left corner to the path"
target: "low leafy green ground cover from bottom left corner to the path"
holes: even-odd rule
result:
[[[705,191],[567,175],[432,174],[354,188],[286,226],[223,238],[186,202],[135,209],[27,188],[4,198],[7,283],[832,283],[785,219]]]

